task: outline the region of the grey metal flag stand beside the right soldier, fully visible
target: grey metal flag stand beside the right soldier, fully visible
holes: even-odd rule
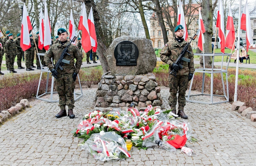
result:
[[[201,103],[201,104],[220,104],[220,103],[229,102],[229,96],[228,96],[228,65],[229,65],[229,62],[227,64],[227,67],[226,67],[225,70],[222,69],[222,66],[223,66],[224,56],[228,56],[229,55],[229,60],[230,60],[231,54],[229,54],[229,53],[195,53],[194,55],[203,56],[203,65],[204,65],[203,67],[204,68],[195,69],[195,72],[203,73],[202,90],[201,90],[201,94],[190,95],[191,87],[192,87],[192,83],[193,83],[193,79],[194,79],[194,75],[193,75],[193,78],[191,79],[191,82],[190,82],[189,92],[188,92],[188,95],[186,96],[186,101],[187,102],[193,102],[193,103]],[[205,68],[205,56],[212,56],[213,57],[212,68]],[[221,63],[221,68],[220,69],[213,68],[214,67],[214,56],[222,56],[222,63]],[[204,93],[205,73],[210,73],[211,74],[211,92],[210,92],[210,94],[205,94]],[[214,73],[221,73],[221,79],[222,79],[222,86],[223,86],[224,95],[213,95],[213,74]],[[224,85],[223,73],[226,73],[227,94],[225,93],[225,85]],[[210,96],[210,102],[190,100],[189,98],[191,96]],[[220,101],[220,102],[213,102],[213,96],[225,97],[226,100]]]

